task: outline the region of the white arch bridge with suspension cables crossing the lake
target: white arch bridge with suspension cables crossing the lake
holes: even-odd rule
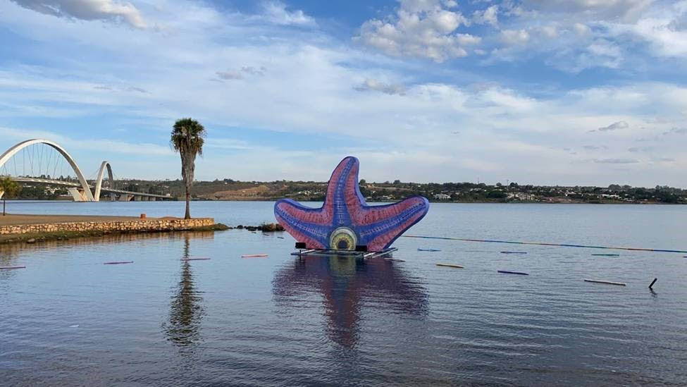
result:
[[[35,150],[32,145],[47,145],[52,152],[46,152],[44,149]],[[27,149],[32,149],[32,152],[27,152]],[[20,159],[19,161],[17,159]],[[9,161],[12,160],[10,163]],[[28,162],[27,162],[28,161]],[[43,165],[43,162],[47,165]],[[75,173],[77,181],[71,179],[64,179],[62,174],[59,179],[55,178],[58,165],[62,169],[60,163],[66,161],[67,168]],[[14,174],[10,173],[14,167]],[[29,172],[30,170],[30,172]],[[61,185],[67,188],[72,195],[75,202],[99,202],[101,194],[109,197],[110,200],[118,200],[120,202],[135,201],[154,201],[154,200],[170,200],[173,199],[169,195],[156,195],[146,192],[134,192],[128,190],[117,190],[114,187],[114,175],[109,161],[103,161],[97,172],[94,180],[94,185],[90,185],[79,166],[74,161],[73,157],[56,142],[43,139],[32,139],[18,143],[17,145],[7,149],[7,151],[0,156],[0,175],[2,172],[5,175],[20,183],[43,183],[50,185]],[[21,173],[19,172],[21,171]],[[62,171],[61,171],[62,172]],[[104,186],[105,172],[107,172],[106,183]],[[49,173],[52,173],[50,175]],[[0,198],[4,192],[0,190]]]

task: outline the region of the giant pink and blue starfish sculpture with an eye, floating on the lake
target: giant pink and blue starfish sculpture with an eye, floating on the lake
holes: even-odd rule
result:
[[[305,207],[292,199],[274,204],[274,215],[308,249],[380,252],[429,210],[421,196],[383,206],[368,206],[358,185],[359,161],[348,156],[334,169],[321,208]]]

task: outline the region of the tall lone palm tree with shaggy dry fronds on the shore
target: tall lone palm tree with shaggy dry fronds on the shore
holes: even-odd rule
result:
[[[186,215],[184,219],[191,219],[190,200],[193,185],[193,171],[196,168],[196,156],[203,154],[205,128],[198,121],[182,118],[174,123],[172,136],[169,140],[172,148],[181,156],[181,177],[186,186]]]

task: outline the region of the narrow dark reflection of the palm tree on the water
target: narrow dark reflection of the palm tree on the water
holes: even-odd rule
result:
[[[189,259],[190,238],[184,238],[184,250],[182,259]],[[163,324],[163,329],[173,344],[179,347],[190,347],[199,340],[199,327],[204,309],[202,306],[201,292],[193,281],[192,262],[181,262],[181,274],[179,283],[173,288],[170,302],[169,320]]]

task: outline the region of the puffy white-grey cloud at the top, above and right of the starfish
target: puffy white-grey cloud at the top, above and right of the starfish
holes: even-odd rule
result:
[[[402,0],[388,20],[367,20],[354,40],[393,56],[419,56],[442,62],[467,55],[478,44],[474,35],[457,32],[469,23],[459,11],[436,0]]]

